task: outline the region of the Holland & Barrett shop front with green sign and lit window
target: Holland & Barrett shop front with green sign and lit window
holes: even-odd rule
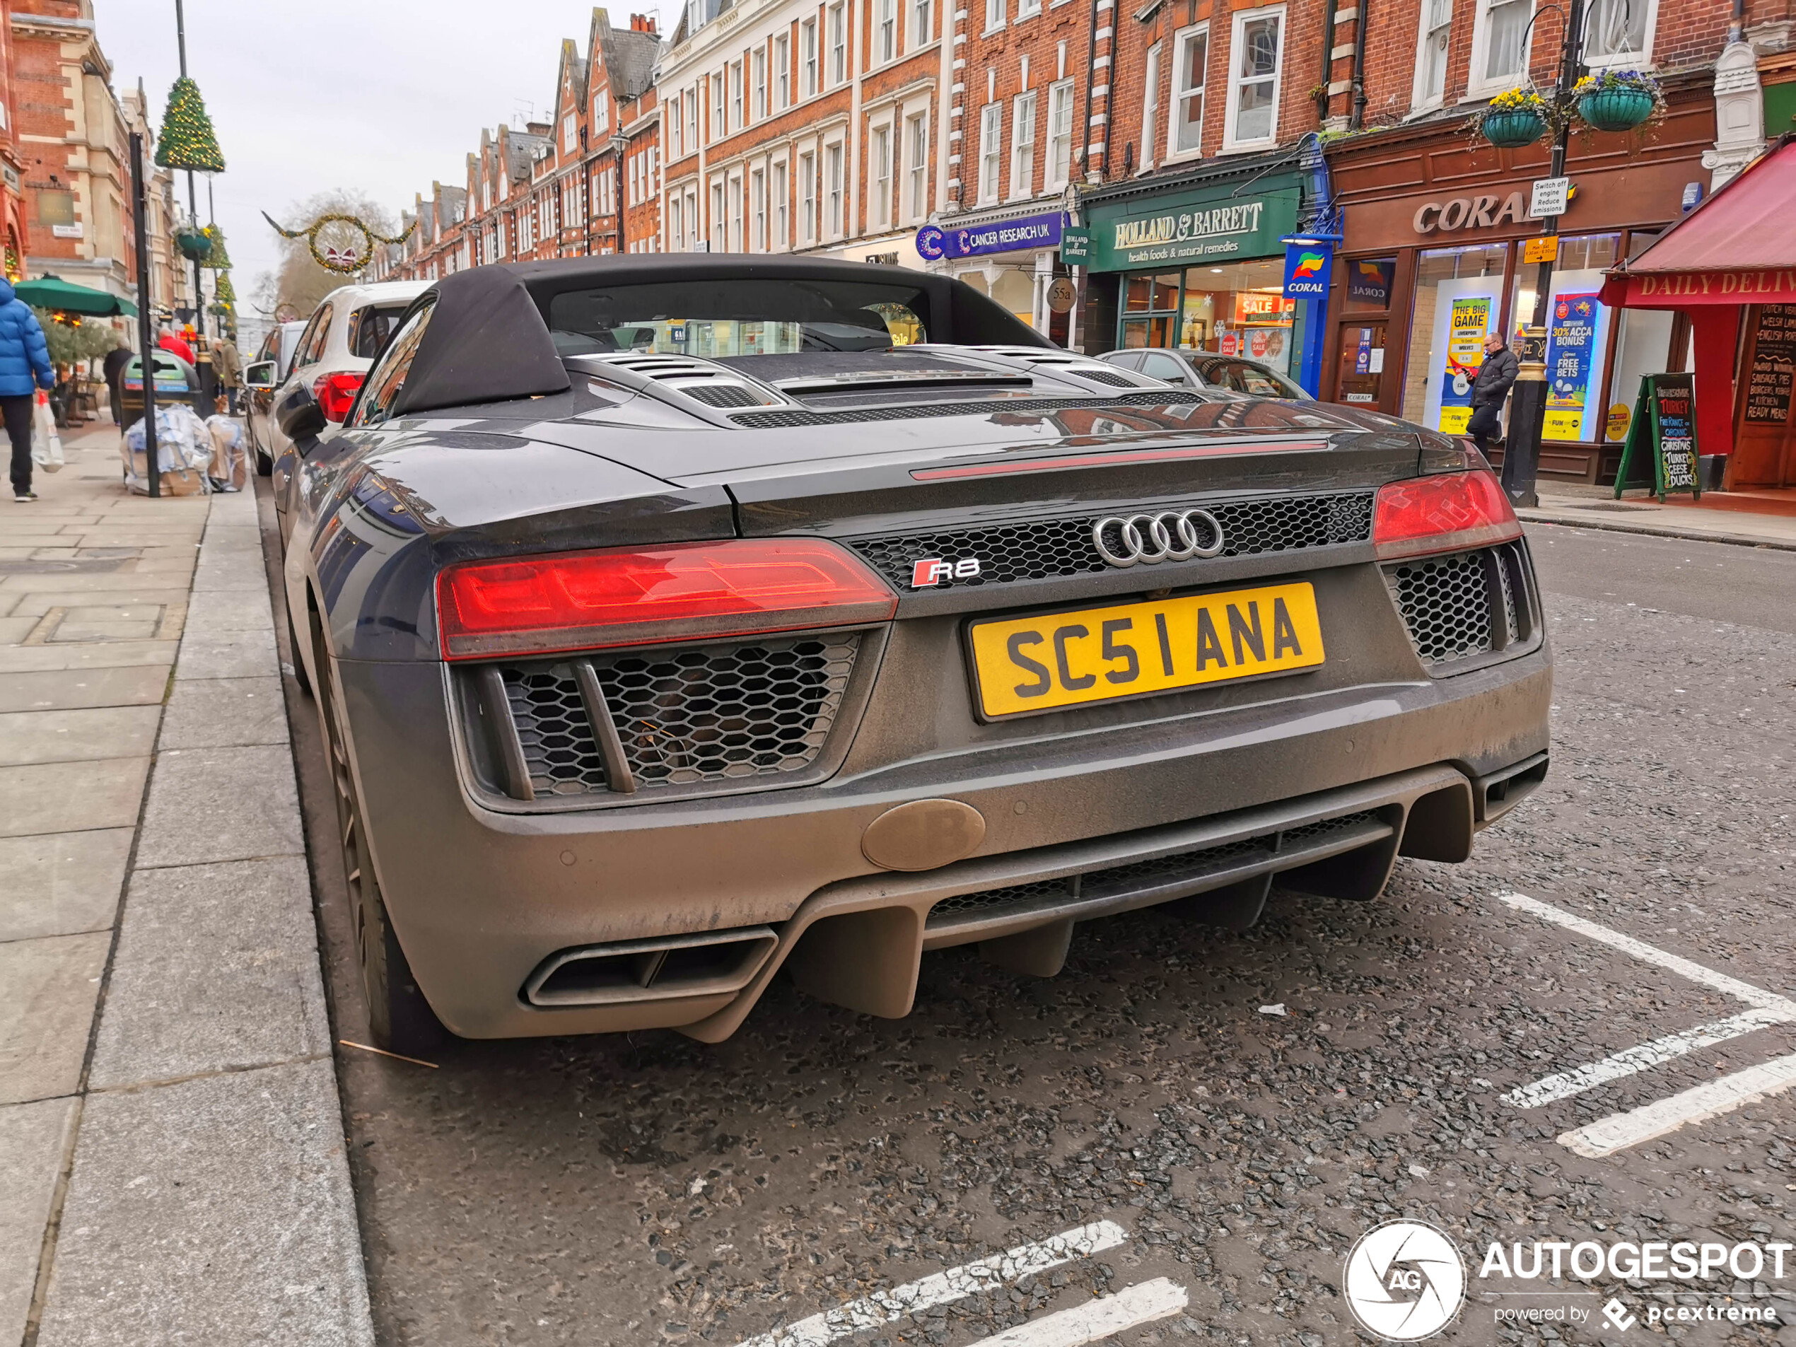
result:
[[[1092,232],[1087,354],[1164,347],[1304,368],[1320,305],[1284,296],[1284,239],[1299,228],[1293,172],[1225,163],[1085,198]]]

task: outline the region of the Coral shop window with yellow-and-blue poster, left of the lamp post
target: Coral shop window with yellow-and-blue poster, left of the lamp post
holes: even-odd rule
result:
[[[1403,377],[1404,420],[1464,435],[1471,420],[1471,381],[1483,361],[1483,338],[1503,330],[1507,262],[1507,242],[1440,248],[1415,259],[1410,361]]]

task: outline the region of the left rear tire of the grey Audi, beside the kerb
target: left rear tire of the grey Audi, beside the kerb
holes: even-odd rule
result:
[[[348,889],[350,925],[356,936],[356,957],[361,964],[361,990],[368,1004],[368,1034],[375,1047],[402,1056],[426,1056],[440,1049],[449,1031],[411,975],[406,952],[399,946],[393,923],[386,916],[381,882],[368,853],[368,833],[363,826],[361,799],[356,794],[356,774],[350,770],[345,747],[343,699],[336,686],[330,659],[323,641],[314,641],[320,693],[318,718],[323,722],[325,763],[330,770],[332,794],[338,810],[338,842],[343,851],[343,884]]]

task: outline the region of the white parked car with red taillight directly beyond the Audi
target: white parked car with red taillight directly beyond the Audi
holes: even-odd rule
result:
[[[424,293],[424,287],[422,280],[390,280],[330,291],[300,330],[287,372],[277,375],[266,363],[257,365],[244,370],[244,384],[268,393],[269,406],[278,406],[287,393],[304,384],[323,409],[325,420],[339,426],[374,357],[381,354],[406,305]],[[293,442],[280,429],[278,417],[266,418],[264,431],[266,453],[273,463],[275,499],[280,499],[284,478],[293,471]]]

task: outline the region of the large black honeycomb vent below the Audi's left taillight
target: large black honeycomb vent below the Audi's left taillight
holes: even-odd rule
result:
[[[596,675],[630,788],[700,787],[815,763],[858,648],[853,632],[736,641],[505,665],[499,677],[530,790],[591,796],[618,788],[623,770],[612,781],[582,665]]]

